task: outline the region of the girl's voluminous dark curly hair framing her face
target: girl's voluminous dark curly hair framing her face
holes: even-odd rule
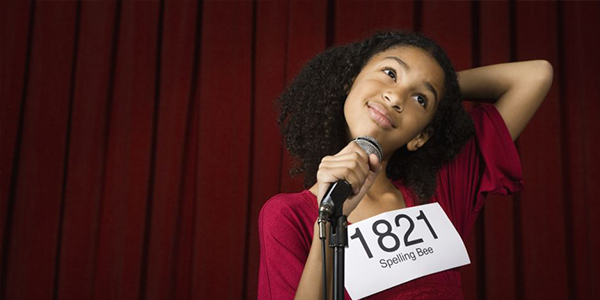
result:
[[[418,199],[428,202],[439,168],[451,160],[473,135],[471,119],[461,105],[454,67],[434,41],[414,32],[385,31],[359,42],[330,48],[311,59],[275,102],[277,125],[288,151],[296,157],[292,176],[304,173],[304,188],[317,181],[321,159],[348,144],[344,102],[354,78],[376,54],[408,46],[429,53],[444,70],[444,93],[431,123],[429,141],[418,151],[406,146],[390,157],[386,175],[401,180]]]

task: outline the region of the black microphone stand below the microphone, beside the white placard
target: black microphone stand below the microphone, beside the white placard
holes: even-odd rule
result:
[[[342,210],[330,219],[329,248],[333,248],[333,299],[344,299],[344,251],[348,246],[348,220]]]

